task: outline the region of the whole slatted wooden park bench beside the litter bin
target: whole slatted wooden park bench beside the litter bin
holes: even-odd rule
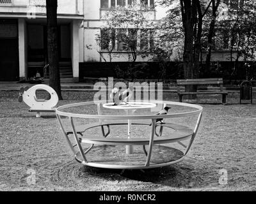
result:
[[[220,91],[196,91],[196,92],[181,92],[180,86],[184,85],[220,85]],[[182,102],[183,95],[189,94],[221,94],[222,103],[227,104],[226,96],[227,92],[223,91],[223,79],[222,78],[193,78],[193,79],[179,79],[177,80],[177,92],[179,95],[179,102]]]

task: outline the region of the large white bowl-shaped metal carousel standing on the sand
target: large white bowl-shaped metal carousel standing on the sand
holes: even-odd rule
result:
[[[166,115],[103,115],[102,108],[110,107],[110,109],[125,110],[129,108],[129,106],[113,106],[112,103],[107,103],[107,101],[83,102],[60,106],[56,109],[57,119],[60,123],[63,135],[67,139],[68,145],[79,163],[97,168],[147,169],[168,166],[170,164],[179,163],[184,159],[198,131],[202,118],[202,106],[173,101],[149,101],[148,103],[134,101],[130,104],[134,105],[130,106],[132,110],[154,108],[156,104],[161,104],[163,108],[166,105],[177,105],[195,108],[195,110],[183,113],[168,113]],[[65,111],[66,108],[88,105],[97,106],[97,115]],[[172,124],[168,122],[163,124],[156,123],[157,119],[189,117],[192,115],[198,115],[195,128],[193,129],[183,126],[182,124]],[[71,129],[65,127],[61,116],[68,117]],[[74,119],[76,118],[98,119],[99,122],[84,124],[83,131],[81,131],[81,129],[79,129],[81,126],[77,127],[74,123]],[[144,136],[143,138],[136,138],[136,136],[132,136],[132,138],[108,137],[111,134],[111,126],[127,125],[127,123],[129,124],[129,122],[127,122],[129,120],[131,120],[132,126],[148,126],[148,128],[151,129],[150,135]],[[145,120],[147,120],[147,122],[145,122]],[[104,127],[105,129],[108,128],[107,133]],[[159,132],[157,132],[157,127],[159,127]],[[102,136],[99,137],[86,133],[86,131],[93,128],[101,128]],[[163,131],[168,131],[168,136],[163,136]],[[71,142],[71,135],[74,136],[76,143]],[[188,145],[182,143],[184,140],[188,140]],[[82,145],[85,143],[89,144],[90,147],[84,149]],[[166,143],[178,143],[182,146],[183,150],[164,146],[163,144]],[[134,153],[125,153],[124,149],[122,149],[124,145],[136,147]],[[146,146],[148,146],[148,148],[146,148]]]

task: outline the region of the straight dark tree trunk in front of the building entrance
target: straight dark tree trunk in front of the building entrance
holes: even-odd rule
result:
[[[47,50],[49,59],[49,85],[62,100],[58,56],[57,0],[46,0],[47,13]]]

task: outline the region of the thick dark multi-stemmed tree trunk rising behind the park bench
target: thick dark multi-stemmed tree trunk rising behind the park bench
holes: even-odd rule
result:
[[[161,0],[160,4],[170,7],[170,12],[179,10],[182,31],[184,35],[183,45],[183,69],[184,78],[198,78],[200,67],[200,53],[202,51],[203,19],[211,6],[207,0]],[[170,19],[173,20],[173,19]],[[179,22],[178,22],[179,24]],[[185,87],[186,92],[195,92],[195,85]],[[195,98],[195,95],[188,96]]]

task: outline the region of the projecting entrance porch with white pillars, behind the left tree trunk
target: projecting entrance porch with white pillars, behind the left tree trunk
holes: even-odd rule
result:
[[[58,0],[61,78],[77,81],[83,61],[84,1]],[[45,0],[0,0],[0,81],[43,75],[47,64]],[[81,57],[81,59],[80,59]]]

